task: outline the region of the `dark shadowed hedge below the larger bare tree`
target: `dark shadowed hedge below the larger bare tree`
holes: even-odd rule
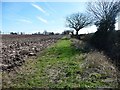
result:
[[[120,70],[120,33],[97,31],[90,42],[98,50],[103,50]]]

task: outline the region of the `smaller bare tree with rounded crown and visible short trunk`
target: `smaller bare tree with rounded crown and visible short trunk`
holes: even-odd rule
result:
[[[78,31],[92,22],[86,15],[82,13],[74,13],[66,18],[67,27],[73,28],[76,30],[76,35],[78,35]]]

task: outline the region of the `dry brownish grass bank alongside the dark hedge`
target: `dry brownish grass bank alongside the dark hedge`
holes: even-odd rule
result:
[[[81,40],[72,39],[72,42],[72,46],[82,50],[85,55],[85,59],[80,65],[83,80],[92,80],[92,82],[100,80],[106,84],[110,83],[111,87],[118,87],[118,71],[115,65],[110,62],[110,58]]]

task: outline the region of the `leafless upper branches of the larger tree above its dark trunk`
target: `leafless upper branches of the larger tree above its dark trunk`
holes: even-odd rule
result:
[[[88,3],[88,11],[95,20],[114,19],[120,12],[120,0],[98,0]]]

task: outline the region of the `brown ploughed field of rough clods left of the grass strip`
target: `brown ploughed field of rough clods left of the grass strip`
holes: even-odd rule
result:
[[[62,38],[62,35],[2,35],[0,68],[12,70],[28,57],[36,56],[44,48]]]

